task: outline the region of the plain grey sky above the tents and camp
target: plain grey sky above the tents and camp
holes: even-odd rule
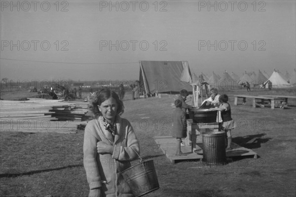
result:
[[[138,79],[141,60],[197,75],[296,67],[295,0],[56,2],[1,0],[1,79]]]

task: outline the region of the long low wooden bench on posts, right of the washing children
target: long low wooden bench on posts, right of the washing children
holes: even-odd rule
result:
[[[237,99],[243,98],[243,105],[246,103],[246,98],[253,99],[253,107],[259,106],[264,107],[264,101],[270,101],[271,109],[274,109],[274,101],[279,100],[282,101],[283,98],[278,97],[260,97],[260,96],[252,96],[252,95],[233,95],[234,96],[234,105],[237,105]],[[258,104],[256,100],[261,100],[261,104]]]

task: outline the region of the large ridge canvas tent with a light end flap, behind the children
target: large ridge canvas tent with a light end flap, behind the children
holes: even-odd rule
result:
[[[140,87],[147,94],[192,92],[187,61],[140,61]]]

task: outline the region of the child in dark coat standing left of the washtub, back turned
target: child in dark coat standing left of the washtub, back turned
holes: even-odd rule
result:
[[[176,135],[177,141],[176,141],[176,146],[177,146],[177,156],[182,155],[183,153],[181,152],[181,142],[182,142],[182,137],[185,137],[186,135],[186,114],[185,111],[182,110],[182,101],[177,99],[175,100],[175,106],[176,109],[173,113],[173,133]]]

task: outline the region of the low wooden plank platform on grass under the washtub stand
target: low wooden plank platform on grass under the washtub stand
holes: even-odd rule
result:
[[[175,164],[178,161],[186,160],[199,161],[203,158],[201,141],[196,141],[196,152],[191,152],[191,146],[181,146],[181,151],[185,153],[185,155],[176,156],[176,138],[172,136],[158,136],[154,137],[154,140],[172,164]],[[257,153],[251,149],[241,147],[233,142],[231,143],[231,147],[233,149],[226,151],[226,157],[254,156],[254,158],[257,159]]]

